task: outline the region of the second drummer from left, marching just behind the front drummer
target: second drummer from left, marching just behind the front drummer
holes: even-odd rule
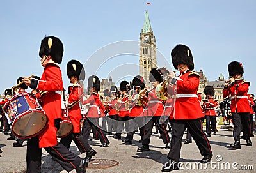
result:
[[[85,71],[83,64],[77,60],[71,60],[67,64],[67,75],[70,79],[70,83],[73,84],[70,94],[68,96],[68,114],[70,121],[73,124],[73,132],[70,133],[67,137],[61,138],[60,142],[70,148],[72,140],[75,142],[80,153],[86,152],[86,158],[90,160],[92,156],[95,156],[97,153],[90,145],[88,140],[85,140],[81,135],[81,126],[80,121],[83,119],[81,116],[80,101],[83,97],[83,87],[80,84],[80,80],[84,80]]]

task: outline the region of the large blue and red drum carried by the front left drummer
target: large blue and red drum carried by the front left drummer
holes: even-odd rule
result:
[[[38,100],[29,93],[17,94],[4,105],[12,132],[20,139],[38,135],[47,124],[47,116]]]

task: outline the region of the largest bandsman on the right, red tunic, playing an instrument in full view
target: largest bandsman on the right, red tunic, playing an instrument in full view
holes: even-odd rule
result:
[[[191,50],[186,45],[177,45],[171,52],[172,64],[179,70],[180,75],[172,78],[172,84],[177,87],[175,95],[175,107],[170,115],[172,120],[172,149],[167,155],[169,159],[162,168],[162,172],[180,169],[180,149],[184,130],[188,128],[198,146],[200,153],[204,155],[201,163],[210,162],[212,158],[209,140],[202,128],[202,109],[198,102],[197,90],[200,75],[191,71],[194,69]],[[172,77],[173,75],[170,75]]]

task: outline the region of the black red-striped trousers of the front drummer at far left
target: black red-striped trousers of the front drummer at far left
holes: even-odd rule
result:
[[[67,147],[63,146],[60,142],[56,146],[45,147],[47,153],[49,153],[55,160],[60,163],[61,167],[67,172],[70,172],[81,162],[81,158],[76,154],[68,151]],[[38,136],[28,139],[27,142],[27,173],[40,173],[42,160],[42,148],[39,148]]]

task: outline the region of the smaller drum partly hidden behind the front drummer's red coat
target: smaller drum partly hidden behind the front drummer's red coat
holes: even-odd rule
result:
[[[73,124],[67,116],[67,110],[63,111],[64,120],[60,121],[60,128],[57,131],[57,137],[67,137],[73,132]]]

